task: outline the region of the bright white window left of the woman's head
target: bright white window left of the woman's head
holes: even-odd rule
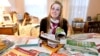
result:
[[[47,0],[25,0],[25,12],[39,19],[47,16]]]

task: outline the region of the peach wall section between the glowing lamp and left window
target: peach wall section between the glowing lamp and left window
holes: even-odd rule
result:
[[[8,0],[11,7],[7,7],[6,11],[16,11],[17,13],[24,13],[24,0]]]

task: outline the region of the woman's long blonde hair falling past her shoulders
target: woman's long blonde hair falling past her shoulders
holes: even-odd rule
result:
[[[54,4],[58,4],[58,5],[60,5],[60,14],[59,14],[59,24],[60,24],[60,27],[62,27],[62,25],[63,25],[63,6],[62,6],[62,4],[59,2],[59,1],[55,1],[52,5],[51,5],[51,7],[50,7],[50,10],[51,10],[51,8],[52,8],[52,6],[54,5]],[[51,18],[51,15],[50,15],[50,13],[49,13],[49,15],[48,15],[48,17],[47,17],[47,32],[49,31],[49,29],[50,29],[50,18]]]

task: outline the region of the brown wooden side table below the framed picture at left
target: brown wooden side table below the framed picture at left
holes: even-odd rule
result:
[[[14,35],[15,32],[17,32],[17,30],[18,30],[17,25],[0,26],[0,34]]]

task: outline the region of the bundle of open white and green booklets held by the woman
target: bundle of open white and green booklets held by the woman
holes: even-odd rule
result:
[[[64,43],[62,41],[62,39],[64,37],[66,37],[66,34],[65,34],[65,32],[64,32],[64,30],[62,28],[57,27],[55,34],[44,33],[44,34],[41,34],[41,37],[43,37],[43,38],[48,40],[47,41],[48,46],[56,48],[59,44],[63,44]]]

